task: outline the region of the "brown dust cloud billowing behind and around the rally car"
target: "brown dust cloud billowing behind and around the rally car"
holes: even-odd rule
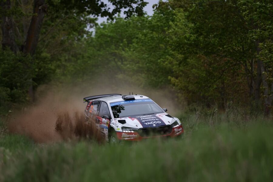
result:
[[[167,108],[170,115],[179,112],[175,94],[170,89],[140,89],[137,86],[124,84],[116,86],[111,83],[86,85],[43,85],[36,91],[35,104],[23,108],[12,115],[9,131],[31,137],[38,143],[51,143],[79,137],[92,136],[100,140],[92,128],[83,126],[83,111],[86,103],[83,97],[120,93],[145,95],[153,99],[161,108]]]

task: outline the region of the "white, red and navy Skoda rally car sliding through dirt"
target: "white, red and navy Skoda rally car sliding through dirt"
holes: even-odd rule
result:
[[[142,95],[106,94],[83,99],[86,123],[95,126],[110,143],[150,137],[175,137],[184,132],[178,118],[165,113]]]

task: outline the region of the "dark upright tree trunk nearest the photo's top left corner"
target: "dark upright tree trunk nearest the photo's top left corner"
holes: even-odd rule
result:
[[[10,10],[10,0],[6,0],[5,2],[1,1],[2,10]],[[7,48],[11,49],[15,54],[19,52],[19,48],[15,43],[15,25],[13,23],[12,16],[2,16],[2,49],[5,50]]]

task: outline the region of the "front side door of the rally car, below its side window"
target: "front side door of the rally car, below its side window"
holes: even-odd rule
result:
[[[98,114],[99,124],[98,129],[101,133],[101,136],[108,140],[108,127],[110,126],[111,115],[108,108],[108,104],[104,101],[101,101]]]

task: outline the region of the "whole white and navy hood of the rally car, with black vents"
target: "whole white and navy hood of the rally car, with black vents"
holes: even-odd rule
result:
[[[130,128],[156,128],[159,126],[170,125],[175,121],[167,113],[149,114],[133,117],[115,118],[114,123]]]

